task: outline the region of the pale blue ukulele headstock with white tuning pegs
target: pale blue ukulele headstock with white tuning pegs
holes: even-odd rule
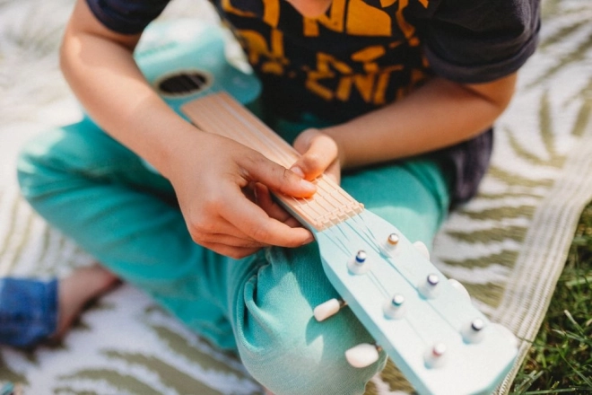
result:
[[[347,353],[359,367],[387,352],[422,394],[485,394],[517,355],[508,329],[493,324],[392,224],[365,210],[315,234],[323,267],[344,302],[316,309],[318,319],[347,305],[377,345]]]

